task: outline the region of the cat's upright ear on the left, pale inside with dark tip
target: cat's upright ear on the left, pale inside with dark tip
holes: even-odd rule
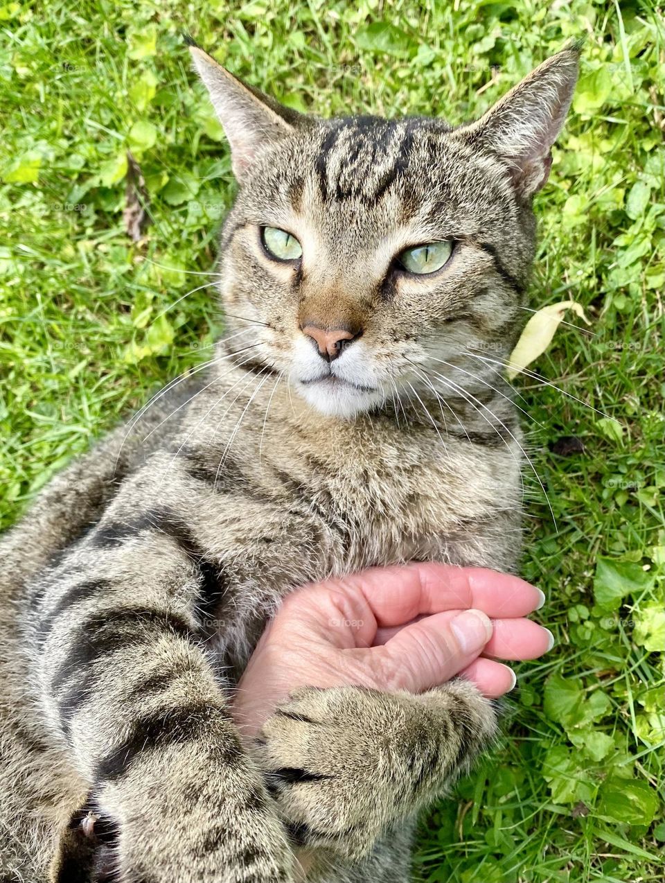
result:
[[[231,147],[235,177],[242,181],[257,156],[291,134],[301,115],[245,85],[196,44],[190,52]]]

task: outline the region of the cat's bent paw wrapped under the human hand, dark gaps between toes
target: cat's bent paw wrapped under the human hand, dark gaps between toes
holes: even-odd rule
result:
[[[295,843],[356,860],[440,793],[495,728],[489,701],[463,681],[422,696],[305,688],[265,722],[256,748]]]

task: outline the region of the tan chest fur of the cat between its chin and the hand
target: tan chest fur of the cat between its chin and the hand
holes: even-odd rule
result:
[[[215,646],[236,675],[295,586],[418,560],[514,570],[517,442],[460,441],[387,413],[327,420],[288,393],[270,404],[258,399],[211,420],[214,401],[198,399],[176,440],[188,461],[191,427],[199,425],[205,468],[191,489],[207,476],[207,491],[178,502],[206,558],[219,565],[224,591],[211,623],[224,623]],[[173,462],[168,457],[166,468]]]

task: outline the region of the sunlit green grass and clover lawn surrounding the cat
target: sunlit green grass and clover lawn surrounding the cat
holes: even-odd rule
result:
[[[502,748],[423,823],[418,868],[464,883],[665,879],[661,12],[576,0],[41,8],[0,7],[3,526],[223,327],[210,289],[179,300],[205,283],[190,274],[211,268],[234,188],[181,30],[295,108],[455,123],[587,37],[537,199],[531,293],[535,307],[575,298],[591,326],[562,326],[532,366],[553,386],[516,382],[556,517],[527,474],[523,571],[548,595],[557,645],[521,668]],[[139,245],[123,230],[127,147],[153,220]],[[557,454],[563,436],[583,452]]]

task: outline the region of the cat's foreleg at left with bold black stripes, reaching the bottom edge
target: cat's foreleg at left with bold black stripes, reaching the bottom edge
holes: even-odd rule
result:
[[[131,479],[35,587],[25,626],[35,704],[113,832],[113,879],[287,881],[288,837],[236,733],[202,628],[203,608],[232,572],[210,557],[204,528],[228,543],[229,558],[239,552],[213,525],[222,495],[206,508],[208,492],[179,480],[170,475],[155,507],[155,474]],[[241,533],[246,543],[250,531]]]

